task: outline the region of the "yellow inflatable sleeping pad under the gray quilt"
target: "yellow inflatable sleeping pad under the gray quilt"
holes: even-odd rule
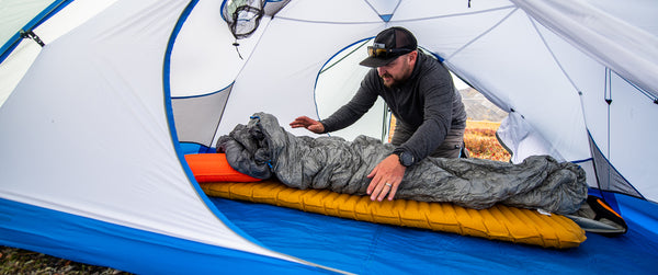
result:
[[[297,190],[274,181],[200,184],[208,196],[544,248],[575,248],[587,239],[585,231],[565,216],[547,216],[536,210],[503,205],[476,210],[451,203],[406,199],[372,202],[368,196],[339,194],[329,190]]]

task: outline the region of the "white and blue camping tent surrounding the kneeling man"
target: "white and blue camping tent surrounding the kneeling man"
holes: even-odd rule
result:
[[[134,273],[656,272],[654,1],[237,2],[2,1],[0,244]],[[510,112],[513,161],[580,164],[628,232],[554,251],[203,194],[185,153],[254,112],[325,117],[393,25]],[[384,135],[372,112],[336,135]]]

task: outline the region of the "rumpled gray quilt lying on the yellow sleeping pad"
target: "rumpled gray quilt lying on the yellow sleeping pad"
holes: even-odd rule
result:
[[[295,136],[276,117],[254,114],[247,125],[237,125],[217,141],[237,171],[259,179],[276,177],[300,190],[329,188],[365,195],[366,175],[389,156],[394,147],[360,136]],[[543,209],[556,214],[578,210],[587,198],[585,171],[570,162],[534,156],[512,164],[484,159],[427,158],[407,169],[396,198],[451,202],[469,208],[509,206]]]

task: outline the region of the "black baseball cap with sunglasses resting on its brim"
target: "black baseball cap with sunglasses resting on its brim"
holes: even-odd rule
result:
[[[368,57],[359,65],[372,68],[382,67],[416,48],[418,48],[418,43],[411,32],[401,26],[389,27],[377,34],[373,46],[367,47]]]

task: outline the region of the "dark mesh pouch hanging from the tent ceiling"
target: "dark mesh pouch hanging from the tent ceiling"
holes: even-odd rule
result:
[[[235,0],[226,1],[222,5],[222,18],[228,23],[230,32],[236,37],[234,46],[240,58],[242,56],[238,49],[240,46],[238,39],[247,38],[256,32],[264,14],[264,5],[265,0]]]

